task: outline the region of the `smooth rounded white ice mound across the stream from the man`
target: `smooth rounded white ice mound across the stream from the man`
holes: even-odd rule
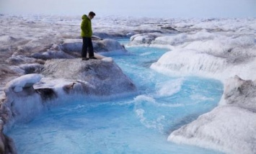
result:
[[[151,65],[156,71],[176,76],[219,76],[229,67],[225,58],[196,50],[172,50]]]

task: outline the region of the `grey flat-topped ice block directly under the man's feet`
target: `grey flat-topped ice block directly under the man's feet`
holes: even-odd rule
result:
[[[110,58],[103,60],[59,59],[45,63],[43,75],[76,81],[74,91],[106,96],[136,91],[136,86]],[[81,82],[83,81],[83,82]],[[80,87],[80,88],[79,88]]]

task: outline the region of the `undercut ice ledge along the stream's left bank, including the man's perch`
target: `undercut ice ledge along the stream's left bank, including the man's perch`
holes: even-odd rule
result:
[[[102,60],[47,60],[42,74],[27,74],[6,84],[1,98],[0,128],[26,120],[48,104],[79,99],[106,99],[136,92],[112,58]],[[0,132],[1,153],[16,153],[9,137]]]

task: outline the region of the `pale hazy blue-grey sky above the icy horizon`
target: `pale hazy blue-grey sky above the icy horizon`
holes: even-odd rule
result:
[[[0,0],[1,14],[256,17],[256,0]]]

